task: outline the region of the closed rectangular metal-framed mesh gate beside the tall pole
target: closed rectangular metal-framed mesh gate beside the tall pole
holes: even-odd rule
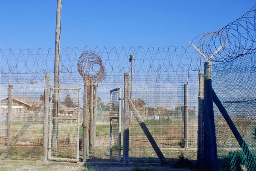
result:
[[[80,88],[51,88],[49,160],[79,161],[80,90]]]

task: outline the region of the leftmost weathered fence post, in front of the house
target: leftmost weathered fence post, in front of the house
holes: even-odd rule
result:
[[[11,142],[11,123],[12,123],[12,89],[13,86],[9,85],[9,96],[8,96],[8,113],[7,113],[7,132],[6,132],[6,145]]]

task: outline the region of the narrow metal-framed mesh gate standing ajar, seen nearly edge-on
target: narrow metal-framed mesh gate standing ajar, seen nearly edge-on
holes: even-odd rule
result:
[[[110,151],[109,156],[121,160],[122,89],[110,90]]]

